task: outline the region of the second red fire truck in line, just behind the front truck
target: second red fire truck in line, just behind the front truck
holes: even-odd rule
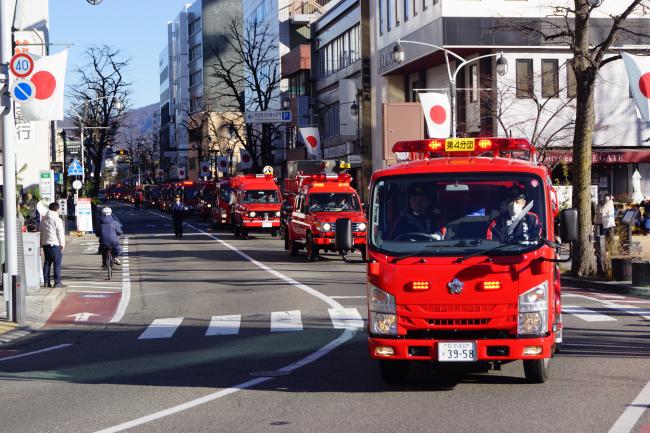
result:
[[[291,255],[305,248],[307,260],[312,262],[321,250],[338,251],[345,260],[349,251],[359,250],[365,261],[368,221],[351,181],[347,173],[299,175],[286,180],[285,189],[295,193],[284,236],[285,249]],[[342,246],[341,240],[346,245]]]

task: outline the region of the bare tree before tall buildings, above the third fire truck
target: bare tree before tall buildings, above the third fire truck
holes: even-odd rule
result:
[[[216,37],[212,76],[219,83],[210,95],[219,101],[221,124],[253,159],[253,169],[273,162],[274,142],[280,126],[243,124],[232,113],[267,111],[278,102],[281,81],[278,41],[267,23],[233,18]],[[224,49],[225,47],[225,49]]]

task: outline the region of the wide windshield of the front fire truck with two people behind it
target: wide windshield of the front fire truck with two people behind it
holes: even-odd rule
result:
[[[397,256],[520,253],[545,236],[544,203],[533,174],[386,177],[372,191],[370,245]]]

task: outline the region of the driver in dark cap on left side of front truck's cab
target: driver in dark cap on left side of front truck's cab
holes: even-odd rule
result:
[[[408,209],[395,221],[392,239],[395,240],[441,240],[445,228],[440,210],[434,209],[427,188],[422,184],[410,185],[406,191]]]

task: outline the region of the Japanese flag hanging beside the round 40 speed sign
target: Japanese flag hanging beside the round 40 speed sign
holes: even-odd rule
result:
[[[28,121],[63,120],[63,90],[68,50],[51,56],[36,56],[34,71],[28,78],[36,89],[34,97],[20,105],[23,118]]]

